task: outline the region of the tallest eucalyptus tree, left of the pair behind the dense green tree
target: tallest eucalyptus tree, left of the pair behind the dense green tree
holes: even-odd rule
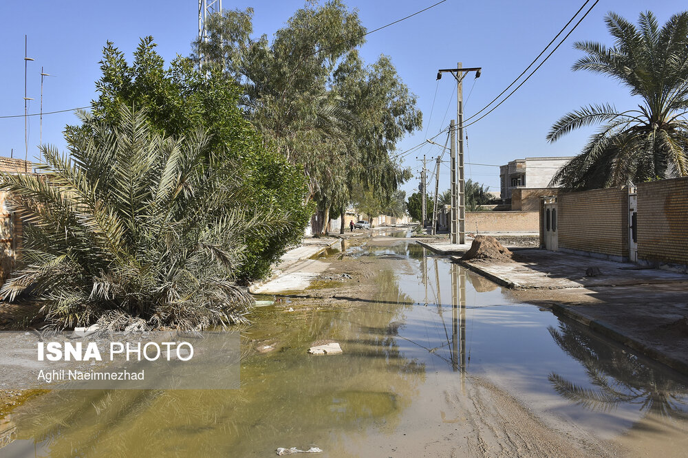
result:
[[[266,35],[251,38],[252,14],[248,8],[212,15],[208,42],[193,43],[193,56],[244,87],[252,122],[289,162],[303,166],[308,201],[330,168],[346,162],[341,143],[350,138],[355,118],[327,83],[338,61],[365,42],[365,28],[356,12],[334,0],[297,10],[268,41]]]

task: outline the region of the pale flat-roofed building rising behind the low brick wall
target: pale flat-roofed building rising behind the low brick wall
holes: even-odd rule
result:
[[[499,167],[502,199],[516,188],[549,188],[550,180],[573,157],[526,157]]]

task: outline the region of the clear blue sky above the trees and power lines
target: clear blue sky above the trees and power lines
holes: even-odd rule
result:
[[[439,68],[482,67],[482,76],[464,82],[466,118],[481,109],[502,91],[544,46],[559,32],[584,0],[448,0],[416,17],[367,36],[361,54],[372,63],[380,54],[391,56],[398,72],[418,96],[424,127],[398,145],[409,149],[436,135],[455,118],[455,84],[447,75],[436,83]],[[426,6],[435,0],[374,0],[346,2],[357,8],[369,30],[384,25]],[[593,2],[591,1],[590,4]],[[303,1],[230,1],[224,8],[255,8],[255,34],[272,34],[303,6]],[[489,116],[467,128],[466,162],[504,164],[509,160],[534,156],[575,155],[592,128],[572,133],[555,144],[545,135],[561,115],[590,102],[614,102],[618,107],[633,107],[637,101],[626,89],[602,76],[571,72],[581,56],[572,49],[574,41],[601,41],[611,44],[603,17],[608,11],[636,22],[641,11],[652,10],[660,23],[671,14],[687,9],[683,1],[649,2],[638,0],[601,0],[574,30],[559,50],[509,100]],[[158,52],[170,61],[176,54],[188,55],[197,35],[196,0],[148,1],[3,1],[0,5],[1,56],[0,116],[23,114],[24,35],[28,35],[29,113],[39,112],[40,73],[45,79],[43,111],[56,111],[89,105],[95,96],[94,82],[100,77],[101,52],[107,40],[127,53],[135,49],[141,36],[152,35]],[[436,94],[436,96],[435,96]],[[469,96],[470,94],[470,96]],[[434,100],[434,107],[433,107]],[[445,115],[446,113],[446,115]],[[43,142],[64,149],[65,124],[76,122],[72,113],[43,118]],[[30,118],[29,157],[37,155],[39,118]],[[0,118],[0,155],[25,155],[24,119]],[[436,139],[444,144],[444,135]],[[418,171],[416,156],[428,158],[440,153],[427,146],[406,157],[408,166]],[[445,156],[446,157],[446,156]],[[499,169],[466,166],[466,177],[499,190]],[[403,188],[417,188],[413,179]],[[449,187],[449,168],[442,166],[440,190]]]

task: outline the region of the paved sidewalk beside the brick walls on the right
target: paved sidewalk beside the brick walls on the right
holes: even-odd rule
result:
[[[688,375],[688,275],[546,250],[520,250],[519,262],[458,261],[515,300],[552,309]],[[599,276],[585,276],[590,267]]]

